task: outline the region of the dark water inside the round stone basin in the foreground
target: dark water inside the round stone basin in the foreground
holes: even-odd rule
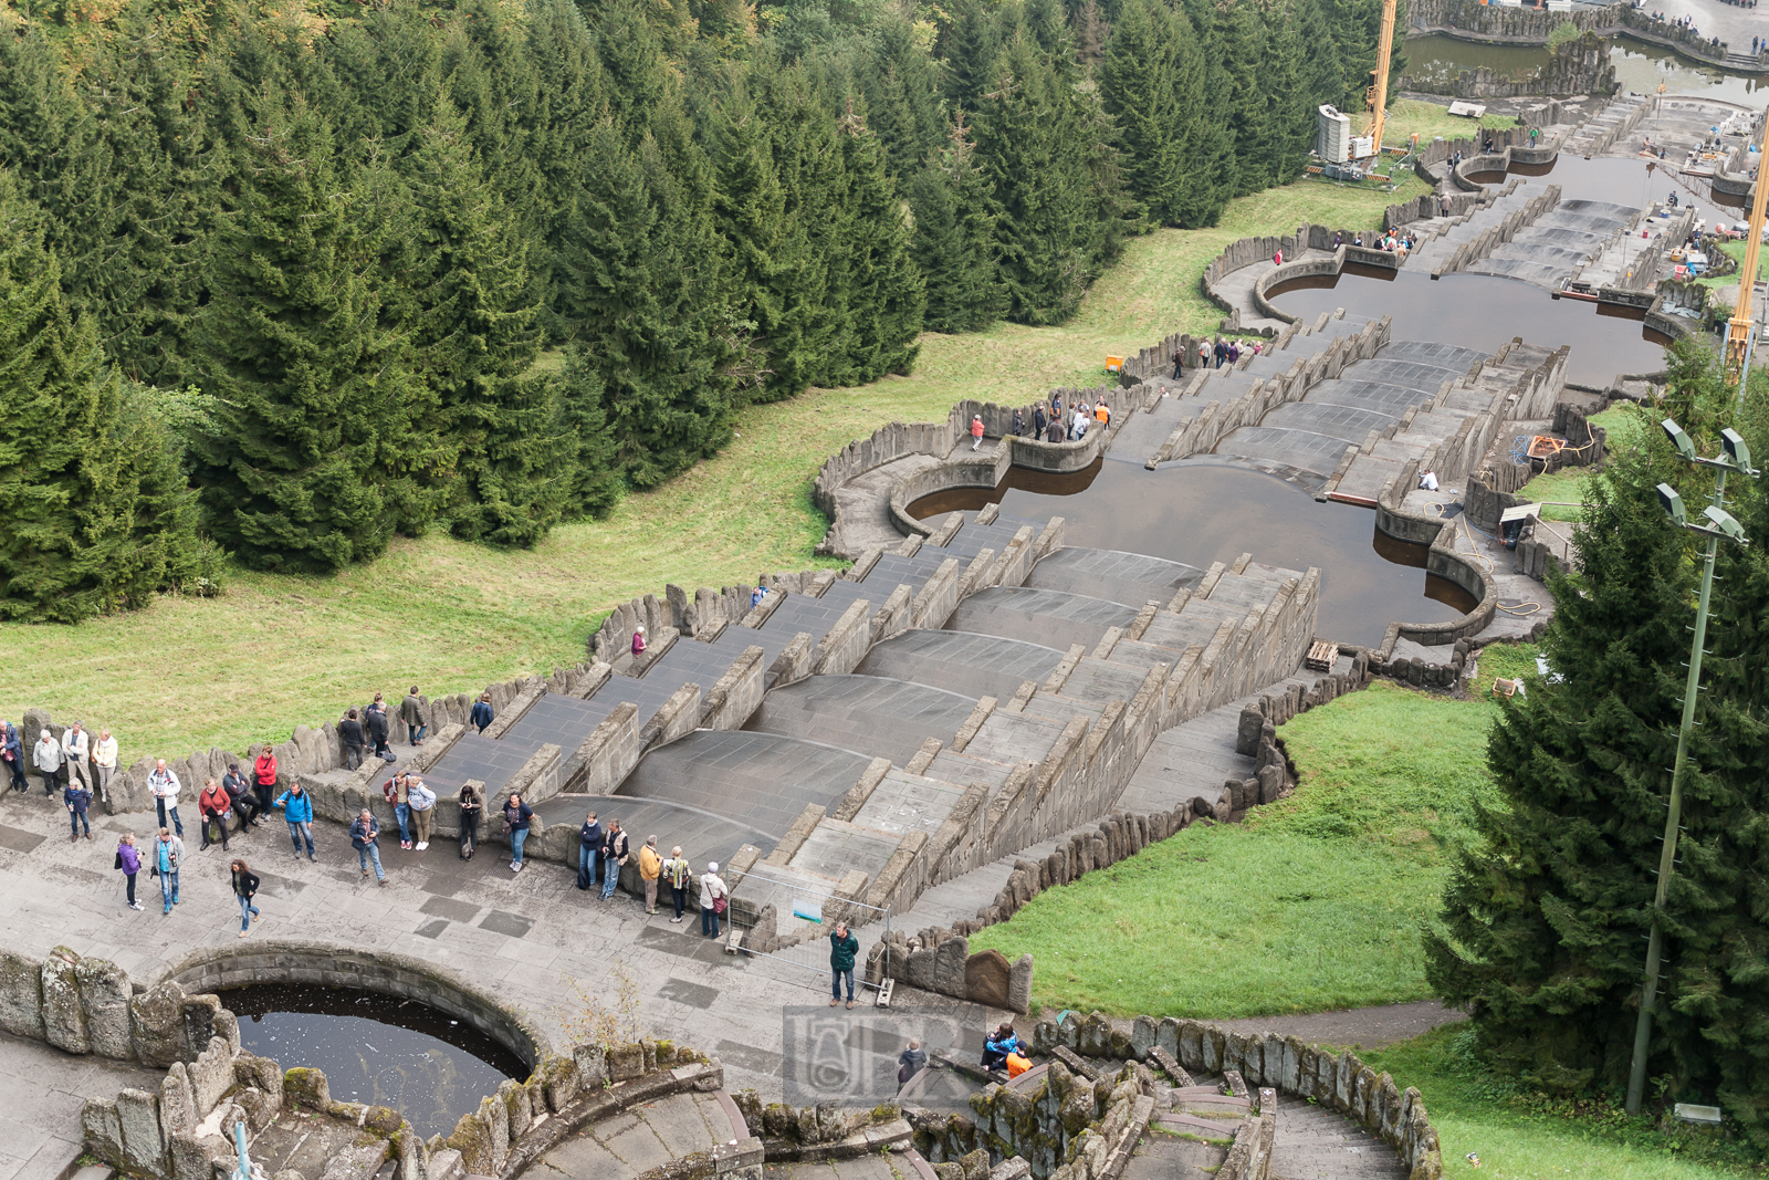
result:
[[[308,984],[219,992],[239,1017],[239,1040],[287,1069],[325,1074],[338,1102],[387,1106],[419,1136],[449,1134],[522,1058],[479,1030],[416,1000]]]

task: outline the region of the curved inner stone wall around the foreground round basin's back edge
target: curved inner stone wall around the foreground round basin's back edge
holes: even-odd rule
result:
[[[412,955],[347,950],[333,943],[253,939],[242,946],[211,946],[186,955],[163,978],[191,992],[255,984],[317,984],[402,996],[472,1024],[529,1069],[538,1069],[552,1054],[547,1035],[527,1017],[448,968]]]

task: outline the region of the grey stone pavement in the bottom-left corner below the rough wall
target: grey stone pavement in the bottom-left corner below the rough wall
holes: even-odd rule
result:
[[[67,1180],[81,1152],[80,1104],[126,1086],[157,1090],[163,1076],[0,1033],[0,1180]]]

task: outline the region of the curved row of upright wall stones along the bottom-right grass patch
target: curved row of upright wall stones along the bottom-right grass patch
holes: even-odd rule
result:
[[[1139,1015],[1123,1033],[1099,1012],[1084,1019],[1070,1012],[1061,1024],[1040,1021],[1031,1033],[1031,1051],[1049,1054],[1058,1046],[1084,1058],[1148,1061],[1166,1056],[1185,1070],[1237,1072],[1247,1086],[1270,1086],[1316,1102],[1380,1136],[1399,1153],[1412,1180],[1440,1180],[1444,1175],[1438,1132],[1421,1093],[1413,1088],[1403,1092],[1392,1076],[1369,1069],[1355,1053],[1336,1054],[1297,1037],[1237,1033],[1173,1017],[1157,1021]],[[927,1150],[922,1153],[927,1155]]]

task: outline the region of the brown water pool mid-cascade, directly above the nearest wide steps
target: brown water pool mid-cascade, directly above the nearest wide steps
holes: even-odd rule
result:
[[[1037,488],[959,488],[909,504],[927,518],[999,502],[1024,520],[1063,517],[1065,543],[1123,548],[1206,568],[1254,561],[1321,571],[1316,633],[1343,642],[1382,642],[1389,623],[1438,623],[1477,603],[1454,582],[1424,571],[1426,547],[1376,531],[1376,513],[1323,504],[1309,492],[1245,464],[1194,458],[1157,471],[1102,460],[1076,476],[1040,476]],[[1063,483],[1068,481],[1068,483]],[[1076,492],[1086,490],[1086,495]],[[938,502],[936,502],[938,501]]]

